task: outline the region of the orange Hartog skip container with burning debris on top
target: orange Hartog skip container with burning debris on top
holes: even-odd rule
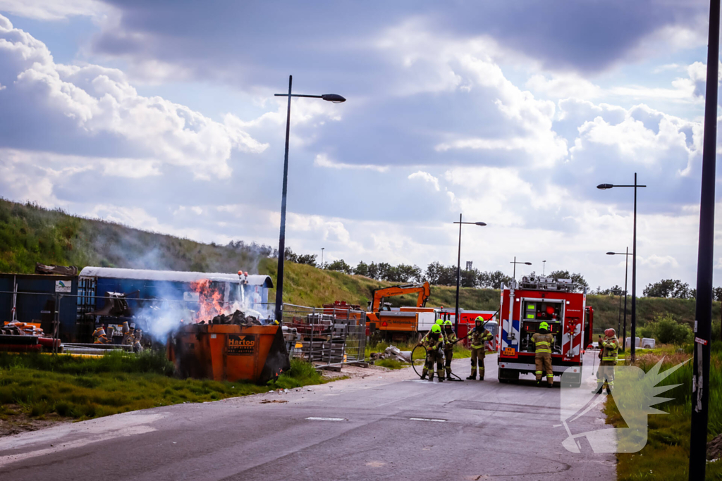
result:
[[[183,377],[266,383],[291,367],[279,326],[185,325],[168,343]]]

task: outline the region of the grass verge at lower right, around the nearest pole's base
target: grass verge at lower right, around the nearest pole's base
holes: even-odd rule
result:
[[[708,441],[722,432],[722,343],[714,343],[712,350]],[[660,372],[676,366],[689,357],[689,354],[677,352],[672,356],[666,356]],[[645,353],[638,358],[637,365],[643,371],[648,371],[660,358],[659,355]],[[660,394],[661,397],[674,397],[673,400],[655,406],[669,414],[648,416],[648,441],[641,451],[633,454],[617,454],[618,480],[686,481],[689,478],[692,363],[677,369],[660,384],[680,384],[679,387]],[[604,412],[607,415],[607,423],[617,428],[627,427],[612,397],[607,399]],[[707,464],[707,479],[722,479],[722,461]]]

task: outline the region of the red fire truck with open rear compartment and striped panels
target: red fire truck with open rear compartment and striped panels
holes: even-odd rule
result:
[[[513,281],[514,282],[514,281]],[[519,379],[519,374],[534,374],[534,343],[531,335],[541,322],[549,324],[554,335],[552,370],[572,387],[581,384],[582,354],[591,343],[593,309],[586,306],[586,288],[575,292],[570,279],[524,277],[516,288],[503,288],[501,294],[501,330],[499,381]]]

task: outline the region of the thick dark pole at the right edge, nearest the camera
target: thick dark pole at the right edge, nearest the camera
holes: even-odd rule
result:
[[[695,308],[695,361],[692,363],[692,430],[690,481],[705,479],[707,423],[710,396],[710,343],[712,332],[712,265],[715,240],[715,162],[717,146],[717,83],[720,51],[720,0],[710,0],[707,42],[705,131],[702,147],[700,242],[697,252],[697,306]]]

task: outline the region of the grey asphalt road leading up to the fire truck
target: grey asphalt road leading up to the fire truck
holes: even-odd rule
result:
[[[454,361],[454,371],[466,377],[468,362]],[[616,479],[613,454],[594,453],[583,438],[580,453],[562,446],[569,433],[560,425],[558,385],[537,388],[531,376],[499,384],[496,356],[486,362],[486,381],[440,384],[410,369],[374,370],[286,394],[0,438],[0,479]],[[582,389],[591,389],[591,369],[584,377]],[[574,425],[575,433],[604,428],[604,415],[595,407]]]

